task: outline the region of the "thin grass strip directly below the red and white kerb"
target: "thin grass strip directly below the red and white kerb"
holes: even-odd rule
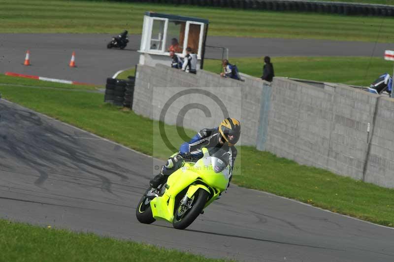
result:
[[[0,85],[1,84],[18,84],[23,86],[33,87],[51,87],[51,88],[66,88],[66,89],[84,89],[84,90],[97,90],[103,88],[102,86],[91,86],[91,85],[70,85],[48,81],[40,81],[37,79],[15,77],[9,75],[0,74]]]

